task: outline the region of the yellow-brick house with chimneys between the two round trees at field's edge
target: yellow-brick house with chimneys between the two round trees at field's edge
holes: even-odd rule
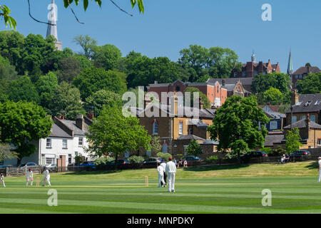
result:
[[[140,125],[147,130],[148,135],[158,135],[161,139],[162,151],[171,155],[187,155],[186,147],[195,139],[203,148],[200,157],[213,155],[218,141],[210,140],[208,126],[213,124],[215,110],[190,108],[178,104],[175,97],[173,105],[164,105],[156,100],[146,98],[145,108],[130,108],[131,113],[139,119]],[[192,113],[197,113],[193,115]],[[132,152],[135,153],[135,152]],[[141,151],[140,155],[156,156],[151,151]],[[129,157],[130,153],[126,154]]]

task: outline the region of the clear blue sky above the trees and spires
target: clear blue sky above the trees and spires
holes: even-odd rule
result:
[[[47,20],[51,0],[30,0],[36,19]],[[255,50],[257,61],[280,63],[287,69],[292,49],[294,69],[310,62],[321,68],[321,1],[320,0],[144,0],[145,14],[131,9],[129,0],[114,0],[133,17],[119,11],[111,1],[102,8],[91,2],[88,10],[73,9],[85,24],[78,24],[69,9],[58,5],[58,38],[63,48],[80,48],[72,42],[78,34],[96,38],[99,45],[112,43],[123,56],[129,51],[149,57],[168,56],[177,61],[179,51],[190,44],[207,48],[221,46],[233,49],[239,61],[250,61]],[[262,21],[261,6],[271,4],[272,21]],[[17,31],[46,36],[46,25],[29,17],[27,0],[2,0],[11,8]]]

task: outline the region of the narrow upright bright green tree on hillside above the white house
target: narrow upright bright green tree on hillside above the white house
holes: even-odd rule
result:
[[[36,81],[35,84],[40,95],[40,105],[45,108],[47,113],[52,114],[50,104],[55,97],[56,88],[58,87],[58,78],[56,73],[49,72],[45,76],[40,76],[39,80]]]

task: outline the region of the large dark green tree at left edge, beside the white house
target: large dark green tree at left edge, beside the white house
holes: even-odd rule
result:
[[[36,152],[34,141],[51,133],[52,120],[34,103],[6,101],[0,103],[0,141],[14,145],[20,164],[23,157]]]

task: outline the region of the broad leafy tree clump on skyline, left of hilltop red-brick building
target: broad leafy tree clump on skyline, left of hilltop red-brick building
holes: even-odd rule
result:
[[[205,75],[211,78],[229,78],[234,68],[240,69],[238,55],[229,48],[211,47],[204,48],[198,45],[190,45],[180,51],[179,63],[183,68],[193,68],[196,77],[190,77],[189,81],[198,81]]]

